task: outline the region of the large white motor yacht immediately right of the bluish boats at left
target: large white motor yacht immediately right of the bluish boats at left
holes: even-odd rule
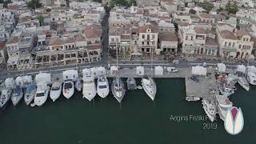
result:
[[[42,106],[48,98],[49,91],[50,87],[47,86],[46,82],[38,82],[37,93],[34,97],[34,104],[36,106]]]

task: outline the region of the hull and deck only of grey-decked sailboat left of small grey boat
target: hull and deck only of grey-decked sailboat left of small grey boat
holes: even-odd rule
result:
[[[112,85],[111,85],[112,94],[114,98],[118,100],[118,102],[122,102],[122,98],[126,94],[125,85],[122,82],[121,78],[114,78]]]

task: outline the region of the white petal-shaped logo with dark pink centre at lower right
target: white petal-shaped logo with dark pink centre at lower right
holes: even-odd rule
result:
[[[242,131],[244,125],[242,110],[233,106],[230,110],[227,110],[224,126],[226,132],[229,134],[239,134]]]

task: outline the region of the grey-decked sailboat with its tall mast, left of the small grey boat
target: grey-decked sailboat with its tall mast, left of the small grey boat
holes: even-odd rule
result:
[[[116,43],[116,56],[117,56],[117,67],[118,67],[118,44]],[[122,82],[122,79],[119,77],[119,67],[118,67],[118,75],[114,78],[111,85],[112,94],[114,98],[118,100],[118,102],[122,102],[122,98],[126,94],[125,85]]]

